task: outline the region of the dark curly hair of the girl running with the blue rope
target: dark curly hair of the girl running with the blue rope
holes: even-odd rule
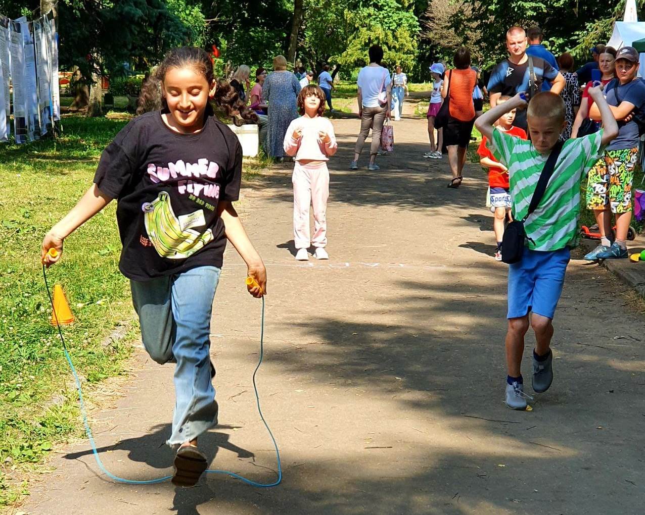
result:
[[[173,48],[166,54],[157,70],[141,86],[141,94],[137,100],[137,115],[160,108],[168,109],[161,86],[166,73],[172,68],[192,68],[195,72],[203,75],[208,84],[215,81],[213,63],[205,50],[194,46]],[[215,95],[213,95],[212,101],[212,104],[209,102],[206,108],[207,112],[215,113],[223,119],[229,119],[237,126],[244,123],[253,124],[258,121],[257,114],[246,107],[244,102],[239,99],[235,89],[226,81],[216,81]]]

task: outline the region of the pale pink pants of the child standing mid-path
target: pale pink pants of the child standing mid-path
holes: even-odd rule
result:
[[[293,167],[293,240],[295,248],[324,247],[327,244],[327,164],[300,164]],[[309,232],[309,206],[313,206],[313,238]]]

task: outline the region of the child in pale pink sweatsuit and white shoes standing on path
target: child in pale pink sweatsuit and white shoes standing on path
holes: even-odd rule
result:
[[[332,122],[323,117],[325,95],[315,84],[304,86],[298,95],[301,117],[293,120],[284,136],[284,151],[295,156],[293,167],[293,240],[299,261],[309,260],[307,249],[316,248],[316,259],[329,259],[327,244],[327,161],[338,144]],[[313,206],[313,238],[309,232],[309,206]]]

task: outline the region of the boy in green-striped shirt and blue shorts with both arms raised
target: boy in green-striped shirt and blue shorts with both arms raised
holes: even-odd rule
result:
[[[618,126],[604,99],[602,86],[590,88],[589,93],[602,115],[603,129],[564,142],[544,196],[524,222],[528,238],[522,259],[509,266],[506,405],[511,409],[526,409],[526,400],[533,400],[524,393],[520,372],[524,335],[529,324],[535,331],[536,340],[533,391],[545,392],[553,381],[551,320],[562,293],[564,273],[570,258],[569,249],[575,246],[577,239],[580,182],[600,158],[604,146],[618,135]],[[493,126],[504,113],[524,108],[527,109],[530,141],[508,135]],[[535,95],[528,108],[522,93],[518,93],[484,113],[475,122],[477,129],[488,139],[495,158],[508,168],[513,220],[526,217],[544,164],[565,124],[564,102],[559,95],[551,92]]]

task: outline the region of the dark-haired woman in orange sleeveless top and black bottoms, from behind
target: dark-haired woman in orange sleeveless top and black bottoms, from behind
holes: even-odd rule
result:
[[[459,188],[475,123],[473,90],[477,84],[477,72],[471,70],[470,50],[463,46],[455,52],[453,64],[455,69],[446,70],[441,96],[450,99],[450,119],[444,127],[444,142],[448,147],[448,162],[453,176],[448,188]]]

